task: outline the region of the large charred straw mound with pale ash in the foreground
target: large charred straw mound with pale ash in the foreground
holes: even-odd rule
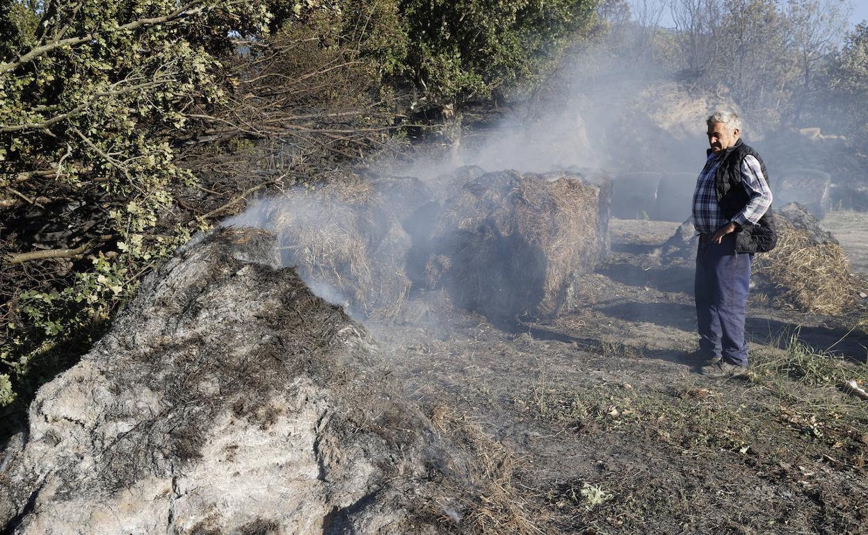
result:
[[[279,267],[273,235],[223,230],[148,276],[39,390],[28,433],[3,452],[0,526],[472,533],[480,514],[506,513],[524,525],[509,472],[442,420],[404,400],[361,325]]]

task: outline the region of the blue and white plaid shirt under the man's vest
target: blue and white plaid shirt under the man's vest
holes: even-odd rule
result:
[[[744,185],[750,199],[733,219],[727,219],[717,204],[717,192],[714,189],[714,179],[720,160],[718,154],[709,154],[702,173],[696,179],[694,227],[700,234],[712,234],[731,221],[742,226],[748,223],[755,225],[768,207],[772,206],[772,190],[769,189],[766,177],[762,174],[759,160],[748,154],[741,162],[741,184]]]

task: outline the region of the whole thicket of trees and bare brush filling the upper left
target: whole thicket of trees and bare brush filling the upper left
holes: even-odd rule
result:
[[[533,80],[592,0],[0,0],[0,406],[251,193]]]

